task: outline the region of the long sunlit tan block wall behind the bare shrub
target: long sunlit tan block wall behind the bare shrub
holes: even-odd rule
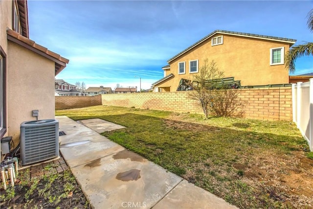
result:
[[[239,89],[244,101],[244,117],[266,120],[292,120],[291,87]],[[191,92],[102,94],[102,104],[178,113],[199,113],[198,101]]]

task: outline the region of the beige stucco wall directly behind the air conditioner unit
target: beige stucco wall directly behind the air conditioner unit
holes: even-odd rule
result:
[[[23,121],[54,118],[54,62],[8,41],[8,135],[19,141]]]

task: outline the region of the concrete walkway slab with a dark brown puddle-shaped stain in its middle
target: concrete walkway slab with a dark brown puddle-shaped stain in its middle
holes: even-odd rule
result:
[[[152,208],[182,181],[127,150],[74,167],[72,172],[95,209]]]

